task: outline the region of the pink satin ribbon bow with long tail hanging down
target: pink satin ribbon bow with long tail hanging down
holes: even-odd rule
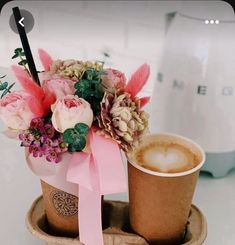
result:
[[[101,196],[126,191],[126,176],[118,144],[93,132],[91,153],[74,153],[67,181],[79,185],[79,237],[85,245],[102,245]]]

